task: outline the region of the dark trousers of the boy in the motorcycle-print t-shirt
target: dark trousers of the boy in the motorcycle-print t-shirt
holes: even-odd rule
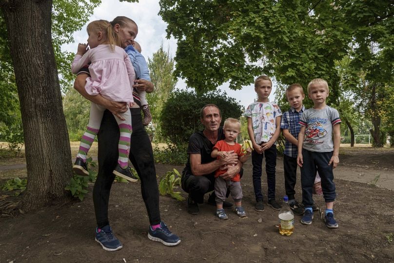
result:
[[[333,164],[328,165],[333,152],[311,152],[302,149],[303,164],[301,167],[302,203],[305,207],[312,207],[313,185],[315,183],[316,170],[321,178],[321,188],[325,202],[334,202],[335,183]]]

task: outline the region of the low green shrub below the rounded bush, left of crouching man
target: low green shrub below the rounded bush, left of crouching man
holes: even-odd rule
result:
[[[153,149],[155,162],[163,164],[184,164],[187,162],[187,143],[172,143],[167,141],[167,147],[160,148],[158,144]]]

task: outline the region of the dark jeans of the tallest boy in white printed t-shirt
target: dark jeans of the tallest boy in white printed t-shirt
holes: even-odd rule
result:
[[[271,148],[265,150],[261,154],[252,151],[253,164],[253,188],[255,189],[256,201],[263,201],[263,194],[261,193],[261,174],[262,162],[265,155],[265,171],[267,173],[268,184],[268,200],[275,199],[275,169],[276,169],[276,145],[273,144]]]

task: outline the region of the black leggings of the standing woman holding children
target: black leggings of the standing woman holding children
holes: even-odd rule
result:
[[[152,144],[142,124],[140,108],[131,108],[133,133],[129,159],[141,180],[141,194],[148,212],[150,224],[160,223],[158,182]],[[98,132],[98,176],[93,189],[93,203],[97,226],[109,224],[108,202],[118,163],[119,128],[109,110],[104,112]]]

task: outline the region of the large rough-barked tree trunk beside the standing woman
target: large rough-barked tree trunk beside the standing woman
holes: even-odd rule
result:
[[[64,200],[71,151],[52,47],[51,0],[0,0],[18,86],[26,149],[22,208]]]

